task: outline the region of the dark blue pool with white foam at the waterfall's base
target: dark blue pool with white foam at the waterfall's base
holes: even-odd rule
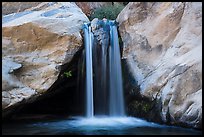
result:
[[[2,135],[201,135],[201,131],[160,125],[134,117],[69,117],[7,122]]]

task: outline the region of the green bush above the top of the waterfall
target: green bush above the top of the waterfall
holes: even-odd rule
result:
[[[93,20],[94,18],[98,18],[101,20],[106,18],[109,20],[115,20],[124,7],[123,4],[114,4],[95,9],[89,16],[89,19]]]

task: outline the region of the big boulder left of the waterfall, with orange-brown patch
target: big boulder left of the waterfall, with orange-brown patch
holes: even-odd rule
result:
[[[21,5],[28,4],[22,2]],[[82,46],[75,3],[43,2],[2,19],[2,109],[45,93]]]

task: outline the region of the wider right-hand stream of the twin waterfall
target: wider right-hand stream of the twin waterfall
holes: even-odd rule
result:
[[[113,24],[112,24],[113,23]],[[118,33],[114,22],[110,25],[110,115],[124,116],[123,82]]]

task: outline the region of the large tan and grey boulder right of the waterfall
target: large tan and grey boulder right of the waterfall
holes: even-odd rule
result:
[[[202,128],[202,3],[131,2],[117,21],[140,94],[163,122]]]

